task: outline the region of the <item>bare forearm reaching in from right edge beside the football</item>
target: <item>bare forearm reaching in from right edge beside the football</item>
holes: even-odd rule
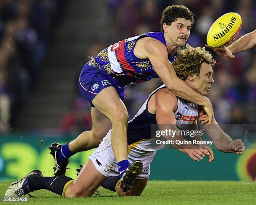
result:
[[[230,46],[228,46],[228,50],[234,54],[234,53],[239,53],[252,48],[253,46],[255,46],[255,43],[256,43],[255,33],[256,31],[254,30],[251,33],[247,33],[246,35],[243,35],[241,38],[239,38]]]

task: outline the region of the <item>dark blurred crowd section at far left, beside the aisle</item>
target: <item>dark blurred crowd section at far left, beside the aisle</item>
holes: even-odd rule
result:
[[[65,0],[0,0],[0,132],[36,87]]]

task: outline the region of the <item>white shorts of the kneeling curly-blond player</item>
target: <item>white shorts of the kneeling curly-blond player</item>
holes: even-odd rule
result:
[[[145,179],[149,177],[150,174],[150,163],[152,162],[156,151],[146,151],[143,149],[139,149],[137,146],[140,143],[143,143],[141,140],[139,142],[134,143],[134,148],[128,146],[128,161],[131,165],[132,162],[136,160],[141,160],[143,163],[143,169],[140,175],[138,175],[138,179]],[[130,149],[129,149],[130,147]],[[89,159],[94,164],[95,168],[102,173],[102,175],[106,177],[115,177],[119,176],[118,165],[115,160],[115,155],[113,149],[111,147],[111,130],[108,134],[103,138],[103,141],[100,143],[99,147],[94,150]]]

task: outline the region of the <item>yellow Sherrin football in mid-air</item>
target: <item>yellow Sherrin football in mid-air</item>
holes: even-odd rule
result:
[[[226,13],[215,20],[207,33],[207,44],[211,48],[220,48],[233,41],[239,33],[242,25],[241,16],[238,13]]]

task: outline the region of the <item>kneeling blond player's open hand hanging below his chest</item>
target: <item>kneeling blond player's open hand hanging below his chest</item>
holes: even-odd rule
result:
[[[199,162],[199,160],[203,159],[203,157],[205,157],[205,154],[207,154],[207,151],[205,149],[194,144],[186,144],[183,151],[196,162]]]

